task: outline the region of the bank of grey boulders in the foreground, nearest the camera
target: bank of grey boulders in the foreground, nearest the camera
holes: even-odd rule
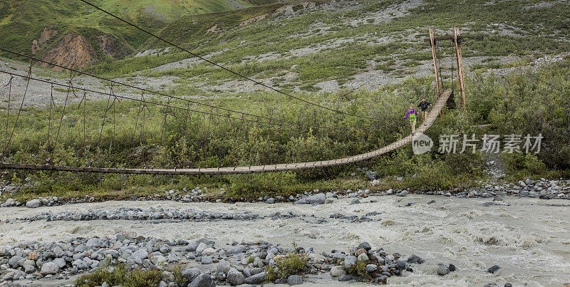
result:
[[[286,259],[293,256],[304,266],[291,273]],[[312,248],[264,241],[217,246],[208,239],[188,242],[115,234],[110,238],[24,241],[0,248],[2,280],[22,285],[50,278],[71,281],[77,274],[116,264],[126,266],[127,270],[163,271],[158,286],[242,285],[267,281],[297,285],[310,280],[311,276],[323,274],[341,282],[386,283],[392,276],[413,272],[413,265],[423,262],[415,254],[404,260],[398,253],[388,254],[382,248],[373,250],[367,242],[353,246],[350,251],[333,249],[317,254]],[[179,268],[183,278],[175,278],[172,266]],[[98,285],[109,286],[110,283],[98,282]]]

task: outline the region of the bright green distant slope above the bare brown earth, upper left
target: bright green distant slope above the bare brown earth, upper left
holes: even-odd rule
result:
[[[181,16],[230,11],[251,6],[240,0],[93,0],[93,4],[150,31]],[[147,40],[144,33],[76,0],[0,0],[0,45],[30,53],[44,28],[56,35],[38,53],[58,43],[66,33],[81,33],[103,58],[97,36],[107,35],[133,51]]]

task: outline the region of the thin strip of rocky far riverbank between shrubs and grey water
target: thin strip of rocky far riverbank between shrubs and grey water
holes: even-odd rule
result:
[[[402,180],[397,178],[396,180]],[[131,197],[126,200],[147,201],[147,200],[170,200],[175,202],[265,202],[274,204],[276,202],[292,202],[294,204],[330,204],[337,199],[346,197],[366,198],[369,196],[398,195],[405,197],[408,194],[429,194],[442,195],[445,197],[457,198],[497,198],[502,197],[530,197],[540,199],[570,199],[570,180],[564,179],[526,179],[517,183],[500,182],[496,179],[489,179],[478,182],[478,187],[460,190],[437,190],[437,191],[420,191],[413,189],[387,189],[378,190],[375,186],[380,184],[380,180],[373,179],[370,182],[370,189],[351,189],[340,190],[336,192],[305,192],[304,194],[291,195],[289,197],[259,197],[257,199],[248,200],[245,198],[227,198],[224,197],[224,190],[212,193],[205,187],[195,187],[194,189],[170,190],[161,194],[155,194],[149,197]],[[63,199],[61,197],[47,197],[39,199],[31,199],[27,202],[18,202],[9,196],[19,191],[19,187],[13,185],[4,185],[0,187],[0,195],[5,194],[8,197],[4,202],[0,202],[0,207],[21,207],[29,208],[52,207],[62,204],[78,204],[84,202],[97,202],[94,197],[86,197],[83,199]],[[109,200],[109,199],[107,199]],[[123,198],[123,200],[125,200]],[[355,204],[360,201],[354,201]]]

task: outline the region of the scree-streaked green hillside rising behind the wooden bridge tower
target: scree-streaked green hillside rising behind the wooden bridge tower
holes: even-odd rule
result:
[[[316,8],[257,16],[280,4],[239,11],[185,16],[160,30],[160,35],[235,71],[270,79],[281,88],[319,90],[319,84],[338,85],[356,75],[387,78],[429,73],[431,54],[423,38],[427,29],[449,33],[460,26],[469,39],[463,53],[467,63],[497,65],[514,57],[519,64],[544,55],[570,51],[570,4],[559,1],[314,1]],[[465,7],[470,7],[465,9]],[[548,16],[546,16],[548,15]],[[215,31],[208,31],[216,27]],[[143,48],[165,47],[150,38]],[[450,56],[450,43],[441,43],[440,57]],[[202,64],[148,71],[165,63],[190,58],[172,53],[128,58],[90,69],[105,75],[175,75],[182,85],[220,85],[232,75]],[[487,63],[487,62],[485,62]],[[445,61],[450,65],[450,59]],[[517,64],[512,64],[517,65]],[[474,67],[477,65],[474,65]],[[477,66],[484,68],[485,66]],[[291,75],[292,74],[292,75]],[[232,78],[239,80],[238,78]]]

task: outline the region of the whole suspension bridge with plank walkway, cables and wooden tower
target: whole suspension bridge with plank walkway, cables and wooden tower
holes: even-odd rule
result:
[[[99,9],[100,11],[103,11],[105,14],[108,14],[108,15],[114,17],[115,19],[119,19],[120,21],[123,21],[130,26],[138,28],[141,31],[149,34],[152,37],[159,38],[161,41],[164,41],[165,43],[168,43],[171,46],[179,48],[181,51],[185,51],[187,53],[190,53],[190,55],[195,56],[197,58],[200,58],[203,61],[205,61],[206,63],[209,63],[210,65],[217,66],[218,68],[222,68],[224,71],[228,71],[229,73],[233,73],[234,75],[237,75],[241,78],[244,78],[245,80],[252,81],[256,85],[261,85],[262,87],[267,88],[271,91],[285,95],[286,97],[288,97],[290,99],[299,100],[304,105],[312,105],[315,108],[320,108],[320,109],[326,110],[328,112],[331,112],[331,113],[334,113],[337,115],[342,115],[342,116],[351,117],[351,118],[355,118],[355,119],[360,118],[360,119],[365,119],[365,120],[369,120],[369,121],[371,120],[372,122],[378,121],[378,118],[372,118],[370,116],[365,116],[365,115],[356,115],[354,113],[348,113],[348,112],[345,112],[342,110],[331,108],[331,107],[323,105],[323,104],[312,103],[309,100],[305,100],[305,99],[299,98],[298,96],[294,96],[294,95],[291,95],[290,93],[286,93],[282,90],[273,88],[269,85],[266,85],[264,83],[259,82],[258,80],[254,80],[253,78],[249,78],[246,75],[242,75],[240,73],[232,71],[231,69],[229,69],[227,67],[221,66],[218,63],[214,63],[212,61],[207,60],[206,58],[198,56],[195,53],[192,53],[191,51],[188,51],[185,48],[177,46],[175,43],[171,43],[170,41],[167,41],[164,38],[160,38],[159,36],[156,36],[155,34],[150,33],[149,31],[145,31],[142,28],[135,26],[134,24],[131,24],[128,21],[125,21],[124,19],[120,19],[118,16],[110,14],[108,11],[100,9],[98,6],[90,4],[88,1],[84,1],[84,0],[79,0],[79,1],[82,1],[85,4],[93,6],[95,9]],[[460,46],[459,46],[460,38],[463,38],[463,37],[459,36],[459,31],[456,30],[456,28],[454,28],[453,36],[451,36],[450,38],[445,38],[445,37],[435,38],[433,31],[430,30],[430,44],[432,46],[434,66],[435,66],[435,74],[436,74],[437,100],[432,105],[432,109],[431,109],[429,115],[427,115],[427,120],[425,120],[425,122],[423,122],[423,124],[416,130],[416,135],[423,133],[426,130],[428,130],[430,127],[432,127],[432,125],[434,124],[438,115],[440,115],[440,113],[442,113],[442,109],[444,108],[444,106],[446,105],[446,103],[448,102],[450,97],[452,98],[452,95],[453,95],[452,90],[442,90],[442,85],[440,84],[440,81],[442,81],[442,75],[441,75],[441,71],[438,70],[439,64],[437,63],[437,54],[436,54],[436,50],[435,50],[437,41],[442,41],[445,39],[449,40],[450,39],[455,43],[455,53],[457,55],[457,72],[459,75],[458,78],[460,80],[460,92],[462,95],[462,104],[465,108],[465,88],[464,88],[463,83],[462,83],[462,63],[460,62],[461,61]],[[148,105],[160,106],[162,108],[166,108],[167,110],[173,110],[173,109],[174,110],[180,110],[182,112],[187,113],[187,115],[189,113],[198,113],[204,117],[204,121],[205,121],[206,117],[209,117],[210,120],[212,119],[212,117],[217,117],[219,119],[219,122],[221,122],[221,118],[226,118],[228,121],[229,120],[241,121],[242,123],[243,122],[251,122],[254,125],[257,125],[258,128],[259,128],[259,125],[266,124],[268,126],[269,125],[279,125],[279,128],[281,128],[281,125],[289,125],[289,126],[296,126],[296,127],[315,128],[315,129],[321,129],[321,130],[346,130],[346,131],[348,131],[348,130],[375,130],[375,129],[380,128],[380,125],[369,125],[369,126],[356,125],[356,126],[344,126],[344,127],[317,126],[317,125],[307,124],[306,122],[301,122],[301,121],[291,121],[291,120],[274,118],[271,116],[254,115],[252,113],[245,113],[245,112],[240,111],[240,110],[232,110],[229,108],[222,108],[222,107],[218,107],[218,106],[207,104],[207,103],[201,103],[198,100],[189,100],[187,98],[181,98],[181,97],[175,97],[172,95],[167,95],[165,93],[160,93],[160,92],[157,92],[155,90],[140,88],[138,86],[130,85],[128,83],[121,83],[117,80],[103,78],[103,77],[100,77],[98,75],[92,75],[92,74],[86,73],[84,71],[76,71],[73,68],[61,66],[61,65],[58,65],[56,63],[49,63],[49,62],[43,61],[39,58],[34,58],[33,56],[28,56],[28,55],[25,55],[23,53],[11,51],[11,50],[6,49],[6,48],[0,48],[0,51],[4,51],[6,53],[12,53],[16,56],[19,56],[20,58],[27,58],[29,61],[31,61],[28,73],[26,75],[23,75],[21,73],[12,73],[9,71],[0,71],[0,73],[4,73],[5,75],[8,75],[10,77],[9,83],[8,83],[8,85],[6,85],[6,88],[9,90],[9,93],[8,93],[9,98],[7,100],[8,107],[6,108],[6,113],[7,113],[7,115],[6,115],[6,132],[4,133],[4,135],[5,135],[4,151],[1,154],[1,159],[2,159],[2,162],[0,162],[0,168],[1,169],[51,170],[51,171],[63,171],[63,172],[98,172],[98,173],[119,173],[119,174],[249,174],[249,173],[261,173],[261,172],[284,172],[284,171],[299,170],[299,169],[316,169],[316,168],[322,168],[322,167],[333,167],[333,166],[338,166],[338,165],[347,165],[347,164],[351,164],[354,162],[361,162],[363,160],[369,160],[369,159],[372,159],[374,157],[379,157],[380,155],[384,155],[388,152],[391,152],[393,150],[396,150],[400,147],[403,147],[403,146],[409,144],[410,142],[413,141],[413,137],[414,137],[414,135],[410,134],[408,136],[401,138],[400,140],[396,140],[395,142],[392,142],[388,145],[380,147],[377,150],[362,153],[359,155],[346,156],[346,157],[336,158],[336,159],[332,159],[332,160],[292,162],[292,163],[269,164],[269,165],[267,165],[267,164],[266,165],[247,165],[247,166],[245,166],[245,165],[244,166],[234,165],[234,166],[226,166],[226,167],[223,167],[223,166],[218,166],[218,167],[207,167],[207,166],[202,167],[202,166],[199,166],[199,167],[195,167],[195,168],[163,168],[163,169],[160,169],[160,168],[123,168],[123,167],[93,167],[93,166],[53,165],[50,162],[51,158],[46,160],[46,162],[47,162],[46,164],[39,164],[39,165],[38,164],[30,164],[30,163],[21,163],[21,162],[8,162],[6,160],[6,159],[8,159],[7,155],[9,154],[10,145],[11,145],[12,139],[14,137],[14,132],[16,130],[16,127],[18,126],[19,119],[21,118],[21,116],[23,116],[23,115],[21,115],[21,113],[22,113],[22,110],[24,110],[24,101],[26,100],[26,94],[28,94],[28,86],[32,80],[37,81],[38,83],[44,83],[46,85],[51,86],[52,95],[51,95],[51,99],[50,99],[49,105],[48,105],[48,107],[49,107],[49,118],[47,119],[48,125],[47,125],[47,139],[46,139],[47,149],[51,150],[51,152],[53,152],[53,149],[58,144],[58,138],[60,137],[61,125],[62,125],[63,119],[65,118],[66,107],[69,105],[69,103],[71,103],[71,100],[73,100],[73,98],[76,98],[76,100],[79,100],[78,108],[81,108],[81,106],[83,104],[83,142],[86,142],[86,137],[87,137],[87,135],[86,135],[86,105],[87,105],[86,93],[98,93],[100,95],[107,97],[107,105],[105,106],[105,111],[104,111],[104,115],[103,115],[103,124],[101,125],[99,138],[96,141],[98,143],[101,140],[101,135],[103,134],[103,127],[105,126],[105,120],[107,120],[108,113],[109,114],[113,113],[113,135],[115,135],[116,122],[115,122],[114,109],[115,109],[116,103],[119,100],[131,100],[131,101],[139,103],[133,137],[134,137],[134,135],[136,135],[138,126],[142,126],[142,134],[144,134],[144,132],[145,132],[145,126],[144,126],[145,125],[145,118],[146,118],[146,116],[145,116],[146,112],[145,111],[148,111],[148,113],[150,113],[150,110],[148,109]],[[44,66],[58,67],[58,68],[68,70],[70,72],[70,78],[68,80],[68,83],[58,83],[54,80],[46,80],[45,78],[41,78],[41,77],[33,77],[32,67],[36,63],[42,63]],[[106,91],[101,91],[101,90],[93,90],[93,89],[81,88],[78,85],[73,85],[73,78],[75,78],[76,75],[86,75],[88,77],[95,78],[95,79],[104,81],[106,83],[109,83],[110,84],[110,91],[106,92]],[[14,78],[23,78],[26,81],[26,84],[24,85],[24,92],[23,92],[23,96],[21,98],[21,103],[19,103],[19,108],[15,111],[11,112],[11,108],[14,108],[14,107],[10,106],[11,100],[14,100],[13,98],[11,98],[12,81],[14,80]],[[61,118],[56,118],[55,113],[52,112],[52,109],[55,108],[55,103],[53,101],[54,86],[61,86],[63,89],[67,90],[66,98],[65,98],[64,103],[63,103],[63,111],[61,113]],[[140,98],[135,98],[131,94],[124,95],[124,94],[115,93],[113,90],[113,87],[117,87],[117,86],[123,86],[126,88],[130,88],[130,89],[140,91]],[[452,88],[452,86],[453,85],[451,85],[450,88]],[[83,91],[83,98],[81,96],[76,95],[76,92],[78,92],[78,91]],[[145,93],[151,94],[151,95],[157,95],[160,97],[165,97],[165,98],[167,98],[167,103],[149,100],[148,98],[145,98]],[[186,103],[187,106],[181,107],[180,105],[172,105],[171,100],[182,101],[182,103]],[[201,108],[210,109],[210,111],[209,112],[204,111],[203,109],[191,109],[190,108],[191,104],[193,106],[199,106]],[[113,109],[113,112],[111,112],[111,109]],[[216,113],[214,113],[214,110],[216,111]],[[15,115],[14,115],[14,113],[15,113]],[[142,118],[141,118],[142,120],[140,120],[140,114],[141,113],[142,113]],[[139,125],[139,120],[140,120],[140,125]],[[188,118],[186,118],[186,121],[187,120],[188,120]],[[13,122],[12,127],[9,126],[10,121]],[[58,126],[57,126],[57,128],[53,128],[53,130],[51,130],[53,122],[55,122],[56,125],[58,124]],[[166,125],[166,122],[167,122],[167,114],[165,113],[165,118],[164,118],[164,121],[162,122],[163,126]],[[209,122],[208,122],[207,127],[208,127],[208,132],[209,132],[209,129],[210,129]],[[11,130],[11,132],[10,132],[10,130]],[[53,138],[54,134],[55,134],[55,138]],[[256,137],[257,137],[257,135],[256,135]],[[86,147],[84,147],[84,149],[85,148]]]

